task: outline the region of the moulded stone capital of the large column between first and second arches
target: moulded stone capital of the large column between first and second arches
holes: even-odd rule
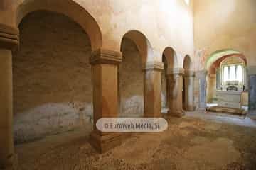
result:
[[[119,64],[122,62],[122,52],[99,48],[92,52],[90,64]]]

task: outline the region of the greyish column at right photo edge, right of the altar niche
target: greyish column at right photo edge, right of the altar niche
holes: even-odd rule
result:
[[[256,115],[256,66],[248,67],[249,77],[249,114]]]

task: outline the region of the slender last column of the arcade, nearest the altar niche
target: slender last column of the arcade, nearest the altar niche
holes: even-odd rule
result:
[[[186,111],[194,111],[194,103],[193,103],[193,84],[195,79],[195,72],[186,71],[184,74],[184,84],[183,88],[185,91],[185,109]]]

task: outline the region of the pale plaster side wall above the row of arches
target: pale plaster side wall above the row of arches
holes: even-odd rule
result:
[[[156,61],[161,62],[166,47],[176,50],[180,67],[185,55],[193,56],[192,4],[187,6],[183,0],[18,0],[0,11],[3,16],[0,23],[17,26],[23,16],[38,9],[57,11],[80,23],[92,40],[92,49],[105,47],[118,51],[124,34],[139,30],[151,43]]]

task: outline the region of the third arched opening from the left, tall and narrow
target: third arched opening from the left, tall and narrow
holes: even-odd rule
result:
[[[164,63],[164,70],[161,75],[161,112],[168,113],[170,102],[169,89],[169,70],[175,69],[178,65],[176,52],[171,47],[166,47],[162,55],[162,62]]]

